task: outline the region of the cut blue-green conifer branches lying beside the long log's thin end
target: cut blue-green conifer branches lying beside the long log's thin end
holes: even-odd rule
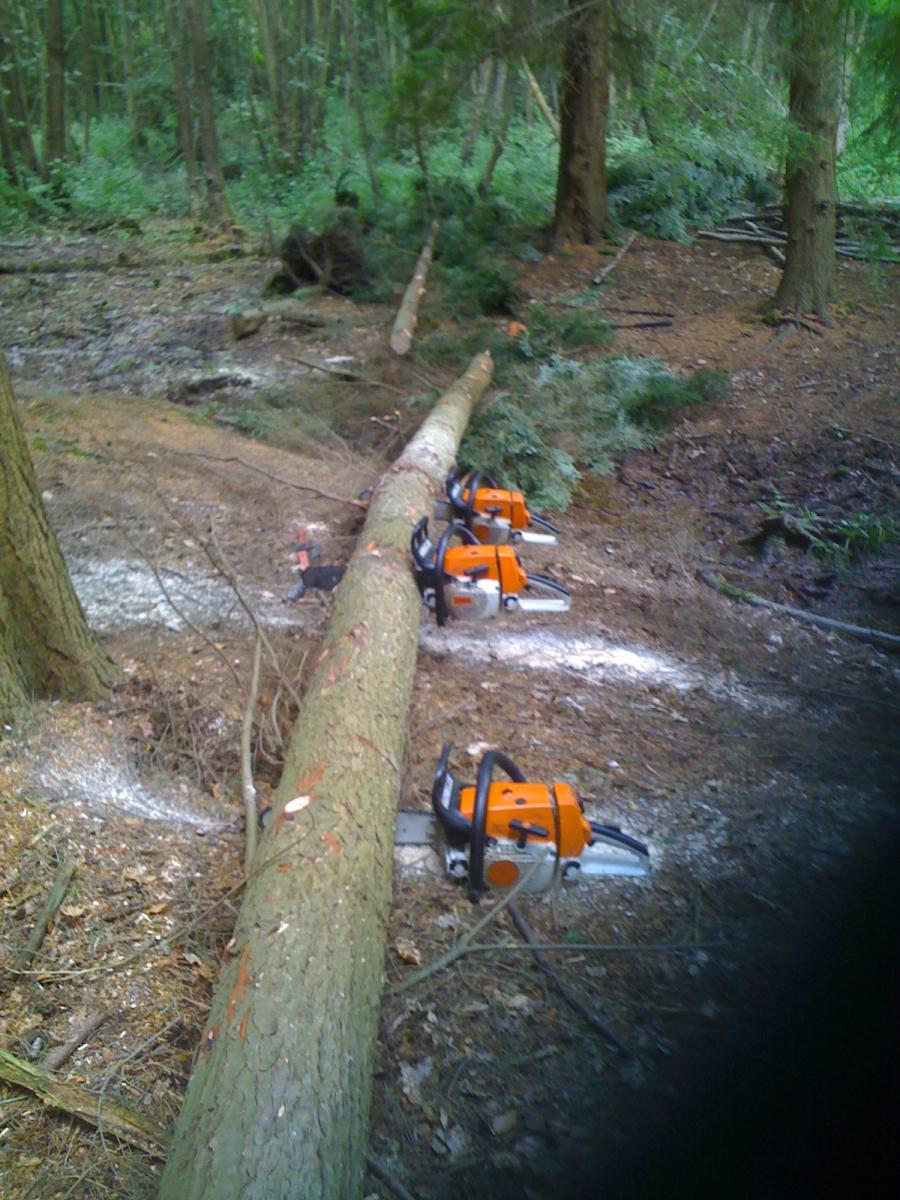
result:
[[[582,470],[610,473],[617,455],[650,445],[689,406],[728,391],[721,372],[676,376],[655,358],[553,355],[520,368],[512,386],[480,409],[461,458],[535,504],[564,510]]]

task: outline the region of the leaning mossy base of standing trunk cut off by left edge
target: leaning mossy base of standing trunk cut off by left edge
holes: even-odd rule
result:
[[[47,521],[0,353],[0,720],[36,695],[102,695],[113,677]]]

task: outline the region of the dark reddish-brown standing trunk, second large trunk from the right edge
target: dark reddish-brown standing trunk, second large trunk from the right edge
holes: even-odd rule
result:
[[[608,0],[569,0],[553,240],[594,242],[606,226]]]

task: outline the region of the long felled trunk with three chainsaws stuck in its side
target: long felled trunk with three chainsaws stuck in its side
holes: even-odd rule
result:
[[[382,476],[308,682],[161,1200],[361,1195],[392,830],[421,605],[409,532],[493,364]]]

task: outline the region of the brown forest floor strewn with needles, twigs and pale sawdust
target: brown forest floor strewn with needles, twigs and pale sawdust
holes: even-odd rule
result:
[[[289,547],[306,529],[323,563],[347,557],[361,514],[341,498],[370,487],[420,420],[404,395],[467,364],[436,380],[415,358],[392,361],[392,310],[328,295],[304,296],[302,320],[235,341],[229,313],[258,302],[274,264],[162,223],[152,240],[4,242],[0,262],[0,344],[41,490],[121,667],[108,702],[37,706],[0,746],[0,1045],[40,1062],[102,1012],[60,1074],[170,1127],[240,900],[247,612],[271,646],[264,803],[331,604],[282,601]],[[606,262],[552,256],[523,268],[522,286],[552,306]],[[697,572],[900,631],[896,544],[829,568],[784,540],[746,542],[761,503],[896,515],[887,270],[878,281],[842,262],[833,325],[775,336],[760,308],[778,269],[758,251],[640,239],[598,302],[676,318],[620,332],[614,349],[727,371],[731,398],[584,481],[559,546],[534,554],[571,588],[570,613],[448,631],[424,618],[402,804],[426,804],[444,740],[463,778],[498,746],[534,779],[571,781],[592,815],[649,844],[653,866],[522,901],[542,941],[566,943],[559,974],[628,1054],[516,950],[466,955],[385,997],[372,1154],[413,1195],[535,1200],[590,1195],[596,1180],[626,1195],[698,1194],[716,1164],[756,1183],[708,1194],[775,1194],[763,1180],[776,1168],[763,1164],[788,1087],[802,1156],[814,1142],[818,1153],[817,1088],[836,1076],[809,1079],[793,1040],[830,1031],[822,1061],[842,1063],[841,1033],[887,988],[863,962],[851,996],[840,972],[856,968],[844,960],[859,881],[877,882],[896,830],[898,660],[726,599]],[[527,305],[520,316],[527,324]],[[422,332],[433,323],[426,299]],[[70,857],[59,920],[13,974]],[[479,916],[427,856],[409,858],[396,869],[389,988]],[[871,918],[877,934],[884,917]],[[517,935],[504,914],[481,941]],[[607,949],[575,944],[588,942]],[[829,972],[839,983],[822,990]],[[757,1136],[761,1154],[748,1145]],[[0,1091],[8,1200],[149,1198],[160,1170]],[[366,1194],[391,1190],[373,1174]]]

